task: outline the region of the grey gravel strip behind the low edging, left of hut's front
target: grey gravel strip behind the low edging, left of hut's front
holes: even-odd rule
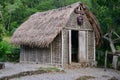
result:
[[[24,71],[38,70],[40,67],[48,67],[39,64],[20,64],[20,63],[5,63],[5,69],[0,70],[0,77],[18,74]]]

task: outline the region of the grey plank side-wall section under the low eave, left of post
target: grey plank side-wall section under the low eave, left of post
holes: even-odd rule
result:
[[[50,48],[21,47],[20,62],[49,64],[50,58]]]

